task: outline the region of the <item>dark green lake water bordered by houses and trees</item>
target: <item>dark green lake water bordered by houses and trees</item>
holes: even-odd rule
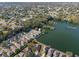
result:
[[[57,22],[55,27],[55,30],[41,36],[38,41],[60,51],[71,51],[79,55],[79,25]]]

